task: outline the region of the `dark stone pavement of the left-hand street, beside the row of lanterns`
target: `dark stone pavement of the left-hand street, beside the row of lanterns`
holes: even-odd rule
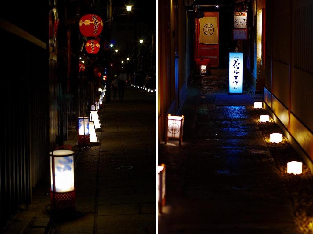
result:
[[[18,212],[5,233],[156,233],[156,98],[127,87],[124,100],[111,99],[100,109],[100,146],[83,150],[75,173],[74,221],[49,225],[49,174],[33,191],[32,204]],[[75,127],[69,128],[73,150]],[[118,169],[131,166],[131,169]]]

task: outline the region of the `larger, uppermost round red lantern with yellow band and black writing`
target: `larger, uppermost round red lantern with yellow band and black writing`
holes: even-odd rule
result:
[[[81,34],[86,37],[96,37],[103,29],[102,19],[94,14],[84,15],[79,22]]]

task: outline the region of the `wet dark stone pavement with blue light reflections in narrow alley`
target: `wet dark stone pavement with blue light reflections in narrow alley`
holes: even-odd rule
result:
[[[159,233],[296,233],[275,161],[246,106],[216,106],[227,70],[194,79],[180,112],[184,141],[159,146],[166,206]]]

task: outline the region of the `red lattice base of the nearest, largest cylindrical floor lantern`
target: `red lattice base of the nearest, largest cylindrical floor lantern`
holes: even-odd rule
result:
[[[50,188],[50,200],[51,206],[56,210],[62,211],[76,211],[76,188],[73,191],[65,192],[65,193],[58,193],[52,192]],[[54,197],[55,200],[54,200]]]

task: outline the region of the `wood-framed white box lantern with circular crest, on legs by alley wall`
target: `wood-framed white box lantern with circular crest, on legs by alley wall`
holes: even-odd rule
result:
[[[167,134],[165,144],[169,138],[179,139],[179,145],[182,143],[182,133],[184,127],[184,116],[167,115]]]

